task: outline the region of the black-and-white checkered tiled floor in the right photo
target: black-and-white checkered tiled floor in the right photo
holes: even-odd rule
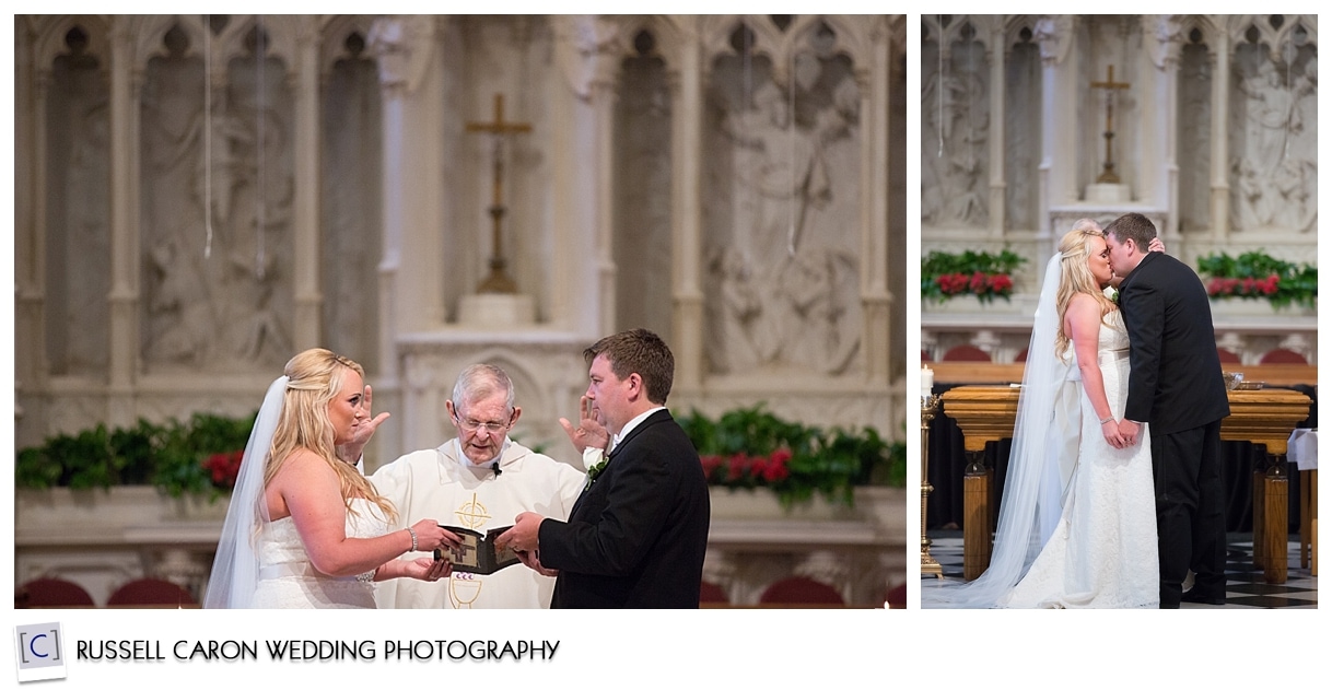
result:
[[[930,555],[943,566],[948,579],[962,579],[962,533],[930,533]],[[1283,585],[1268,585],[1263,571],[1253,569],[1253,535],[1232,533],[1228,537],[1225,606],[1205,603],[1184,603],[1183,609],[1317,609],[1319,578],[1309,574],[1308,567],[1300,567],[1300,542],[1288,542],[1287,579]],[[920,586],[928,587],[936,578],[920,578]]]

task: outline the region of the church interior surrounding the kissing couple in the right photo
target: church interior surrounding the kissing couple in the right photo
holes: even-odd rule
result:
[[[922,586],[988,562],[1010,442],[986,425],[1008,400],[1011,430],[1016,397],[983,386],[1022,381],[1042,266],[1078,218],[1136,212],[1199,272],[1237,374],[1227,607],[1316,607],[1317,19],[922,15],[919,31]]]

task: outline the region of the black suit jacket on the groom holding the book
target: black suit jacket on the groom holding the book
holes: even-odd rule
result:
[[[711,506],[694,444],[665,409],[611,449],[569,522],[545,519],[553,609],[697,609]]]

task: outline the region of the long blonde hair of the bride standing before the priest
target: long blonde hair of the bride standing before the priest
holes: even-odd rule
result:
[[[292,453],[304,448],[324,458],[337,473],[349,512],[354,513],[353,498],[368,498],[394,519],[397,512],[393,504],[381,497],[354,466],[337,457],[329,404],[342,394],[342,372],[346,369],[365,378],[365,369],[360,364],[322,348],[305,350],[286,362],[282,372],[286,376],[286,393],[277,430],[273,433],[273,445],[265,458],[264,486],[273,481]]]

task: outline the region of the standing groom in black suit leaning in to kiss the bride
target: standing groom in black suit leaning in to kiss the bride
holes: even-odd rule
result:
[[[1225,603],[1221,418],[1229,416],[1207,290],[1188,265],[1148,252],[1156,226],[1127,213],[1106,226],[1110,265],[1124,280],[1128,401],[1119,433],[1138,442],[1151,424],[1162,609]],[[1193,589],[1181,586],[1188,570]]]

